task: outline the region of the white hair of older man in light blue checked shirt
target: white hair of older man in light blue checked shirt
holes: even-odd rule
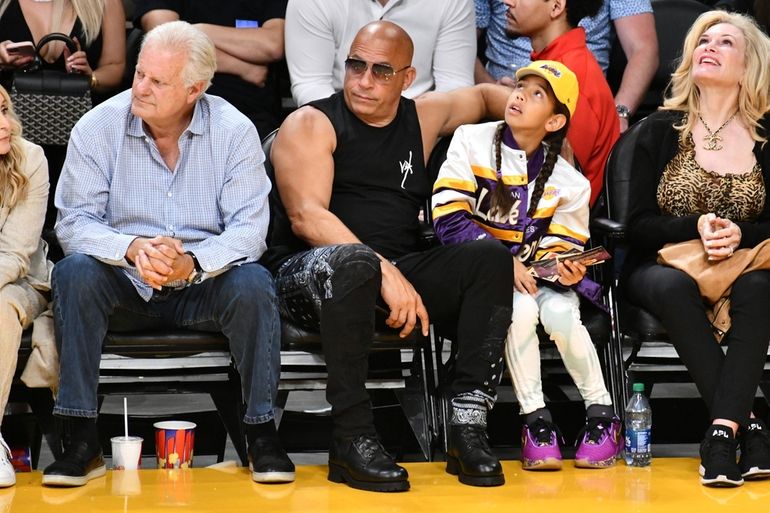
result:
[[[203,91],[211,85],[217,70],[217,53],[214,43],[202,30],[186,21],[171,21],[158,25],[144,36],[139,55],[148,46],[185,54],[182,81],[189,87],[203,82]]]

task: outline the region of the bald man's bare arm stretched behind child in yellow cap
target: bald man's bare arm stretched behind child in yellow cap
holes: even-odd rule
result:
[[[425,158],[436,139],[449,135],[460,125],[483,119],[503,119],[511,89],[495,84],[479,84],[448,93],[431,92],[415,100],[422,128]]]

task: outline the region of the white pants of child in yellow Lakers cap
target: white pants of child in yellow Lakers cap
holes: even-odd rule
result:
[[[505,341],[505,358],[519,400],[520,413],[545,407],[540,377],[538,322],[556,343],[564,366],[575,381],[586,407],[610,406],[599,357],[580,321],[580,299],[573,290],[540,287],[535,295],[513,293],[513,322]]]

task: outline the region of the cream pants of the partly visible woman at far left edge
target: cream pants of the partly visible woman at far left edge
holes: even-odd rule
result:
[[[47,305],[43,295],[26,281],[0,287],[0,423],[16,371],[21,333]]]

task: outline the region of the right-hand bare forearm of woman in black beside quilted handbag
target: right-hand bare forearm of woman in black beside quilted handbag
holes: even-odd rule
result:
[[[106,0],[102,19],[102,53],[93,71],[99,89],[120,85],[126,68],[126,14],[120,0]]]

